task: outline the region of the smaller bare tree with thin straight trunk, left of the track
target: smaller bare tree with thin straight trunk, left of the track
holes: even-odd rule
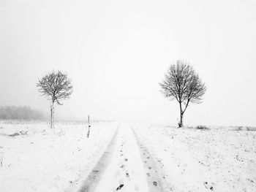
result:
[[[37,87],[42,96],[47,96],[50,100],[50,128],[54,127],[54,104],[59,104],[62,99],[69,99],[72,94],[73,86],[67,74],[58,72],[50,72],[37,82]]]

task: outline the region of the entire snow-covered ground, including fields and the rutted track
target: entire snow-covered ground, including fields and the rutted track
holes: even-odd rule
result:
[[[255,191],[247,129],[0,122],[0,191]]]

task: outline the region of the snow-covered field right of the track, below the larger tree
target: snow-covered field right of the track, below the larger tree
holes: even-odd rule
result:
[[[134,128],[171,190],[256,191],[256,128]]]

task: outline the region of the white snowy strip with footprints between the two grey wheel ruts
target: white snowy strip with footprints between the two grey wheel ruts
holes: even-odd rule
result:
[[[140,151],[127,123],[122,123],[119,128],[110,164],[95,191],[149,191]]]

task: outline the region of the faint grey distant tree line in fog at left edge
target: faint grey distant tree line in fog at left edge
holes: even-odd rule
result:
[[[32,110],[31,107],[0,107],[0,119],[3,120],[45,120],[45,115],[39,110]]]

